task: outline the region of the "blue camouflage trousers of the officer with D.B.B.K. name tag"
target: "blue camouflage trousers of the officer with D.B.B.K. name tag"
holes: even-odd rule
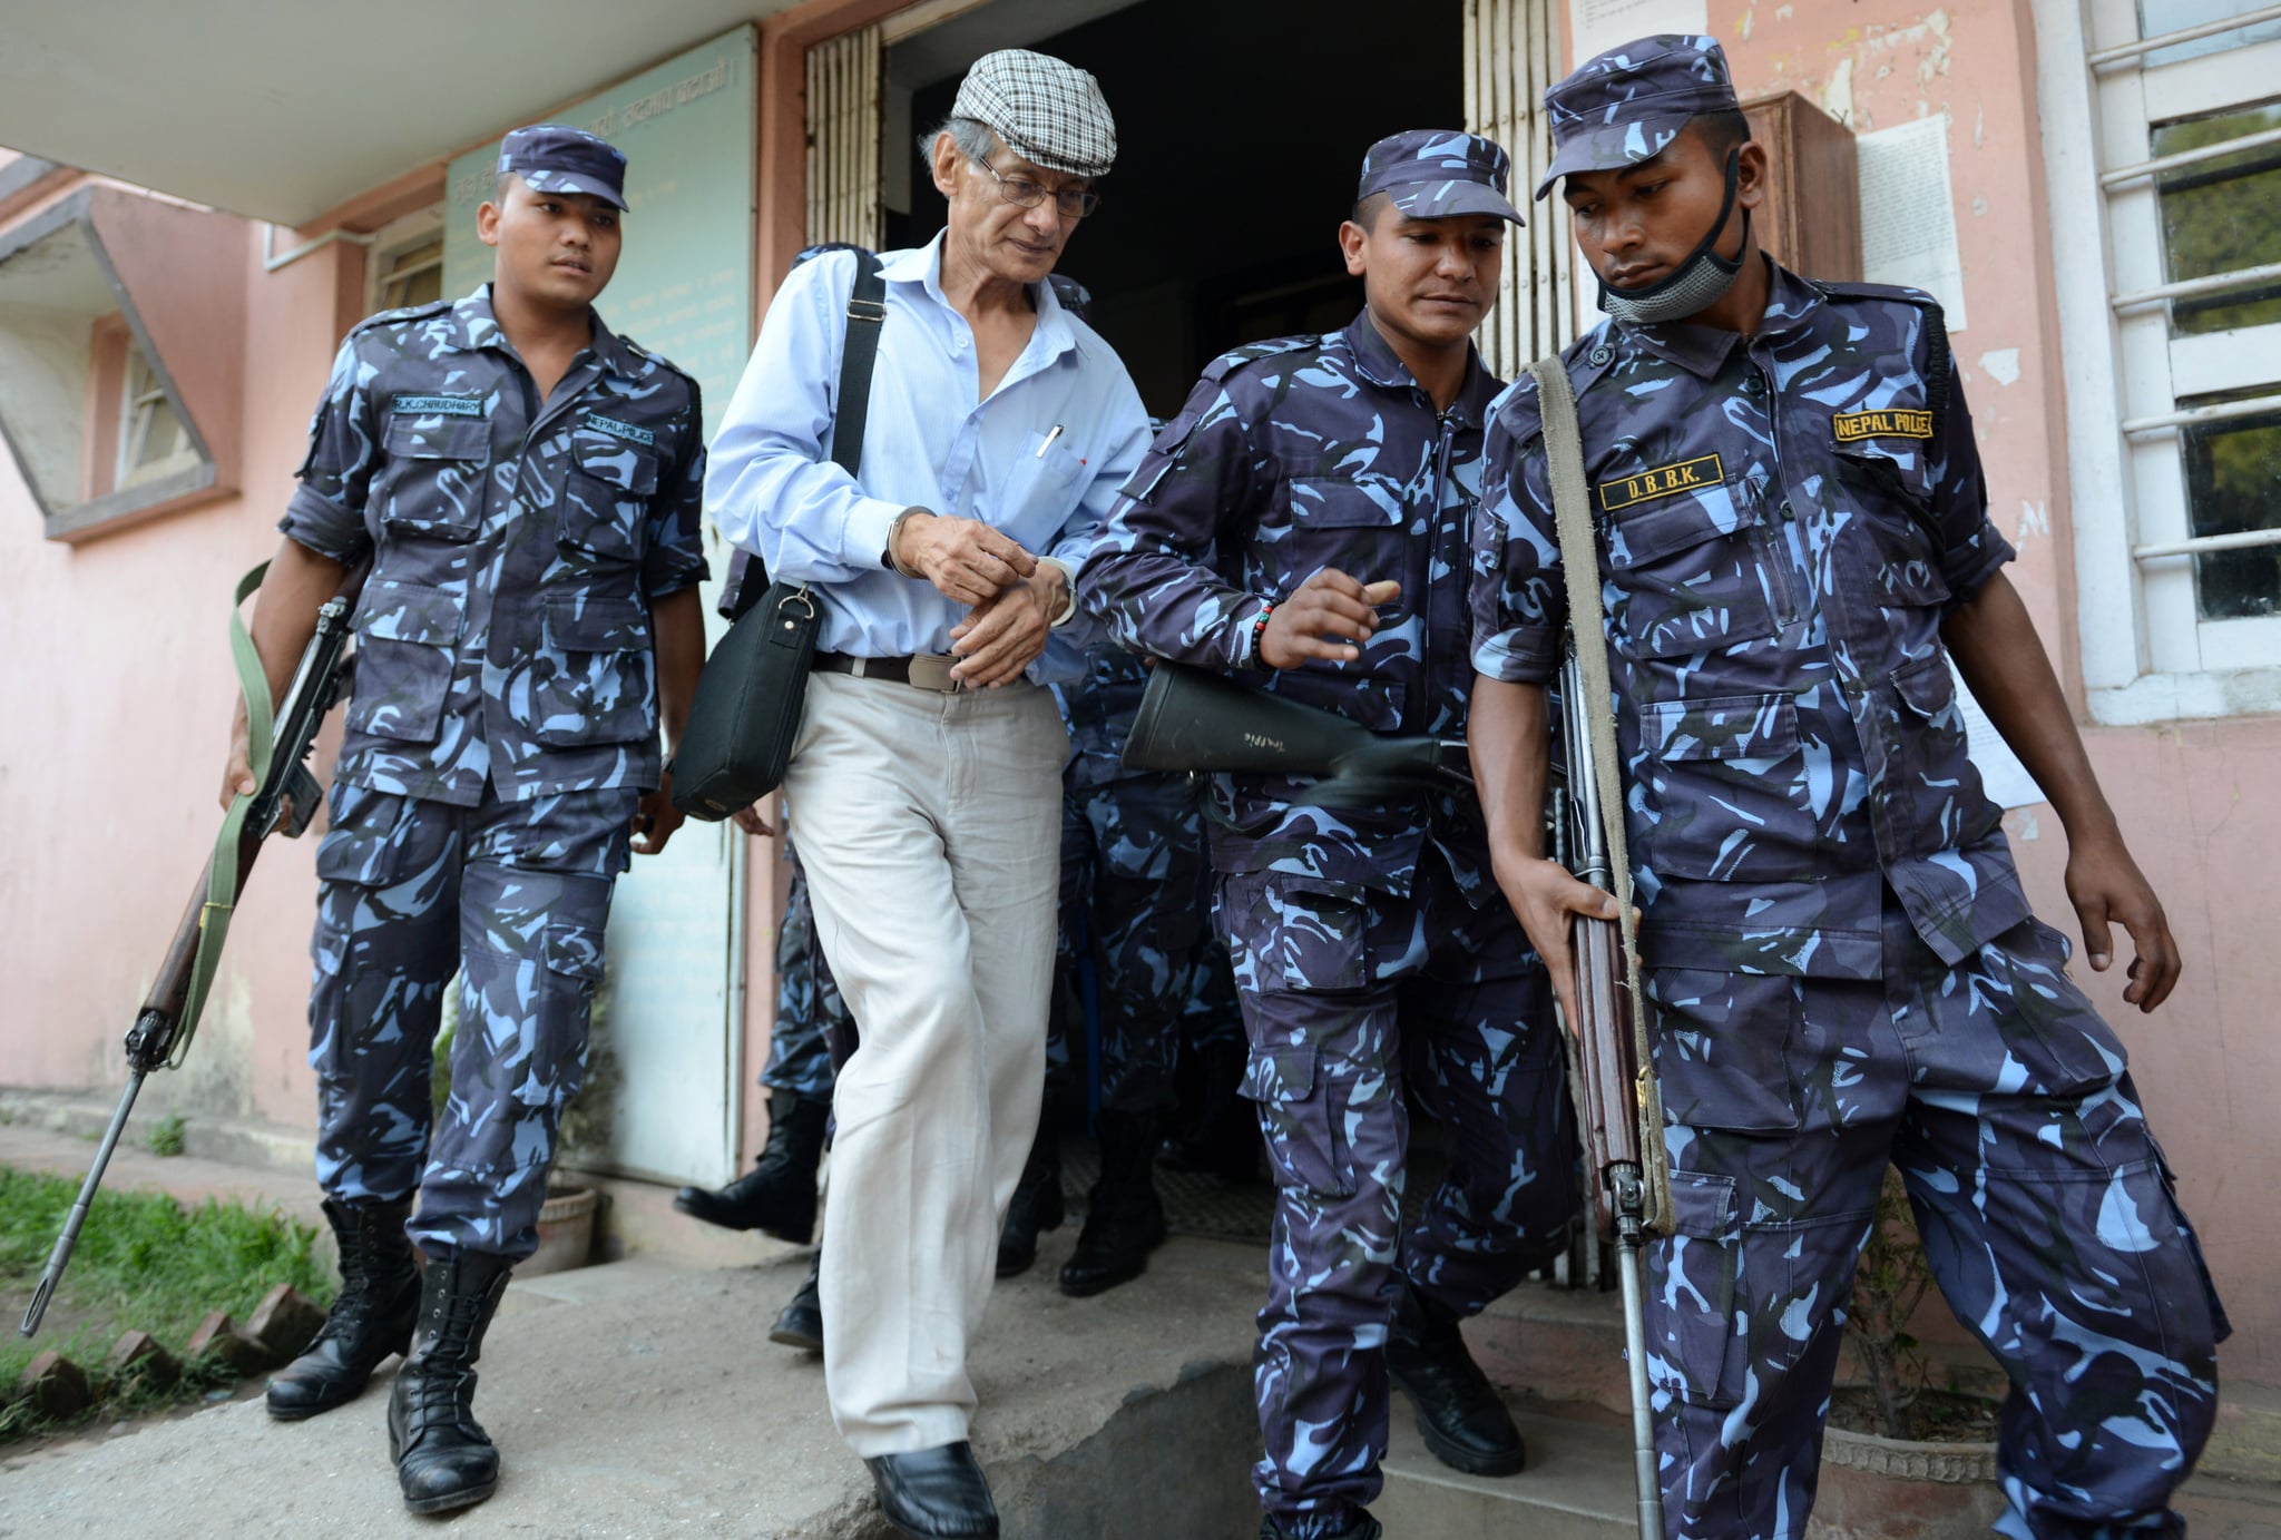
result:
[[[2000,1533],[2176,1535],[2224,1310],[2124,1049],[2028,919],[1884,979],[1651,970],[1679,1234],[1649,1250],[1672,1535],[1807,1533],[1843,1303],[1900,1168],[1925,1259],[2012,1380]]]

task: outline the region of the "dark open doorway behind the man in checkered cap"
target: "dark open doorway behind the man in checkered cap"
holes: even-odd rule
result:
[[[1020,46],[1093,71],[1115,112],[1118,169],[1063,271],[1093,290],[1093,326],[1156,418],[1229,347],[1346,326],[1362,283],[1337,230],[1362,153],[1464,121],[1460,0],[1140,0]],[[890,246],[942,228],[912,135],[956,94],[956,73],[917,87],[910,132],[885,146],[910,157],[908,183],[887,178],[910,189]]]

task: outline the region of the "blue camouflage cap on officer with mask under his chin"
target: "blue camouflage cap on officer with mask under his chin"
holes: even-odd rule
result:
[[[1663,32],[1610,48],[1544,94],[1553,164],[1537,196],[1569,171],[1654,160],[1695,114],[1734,110],[1734,75],[1715,39]]]

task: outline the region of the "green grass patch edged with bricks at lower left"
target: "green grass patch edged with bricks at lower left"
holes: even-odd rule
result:
[[[281,1282],[319,1305],[333,1298],[333,1273],[315,1255],[317,1230],[297,1218],[212,1198],[192,1209],[164,1193],[105,1191],[48,1305],[48,1326],[25,1339],[16,1323],[78,1191],[78,1180],[0,1166],[0,1396],[14,1392],[34,1355],[57,1348],[96,1387],[89,1417],[146,1410],[228,1383],[228,1373],[198,1373],[185,1362],[185,1383],[171,1392],[112,1385],[103,1360],[121,1332],[151,1332],[180,1357],[210,1310],[244,1323]],[[36,1430],[43,1426],[27,1403],[0,1408],[0,1442]]]

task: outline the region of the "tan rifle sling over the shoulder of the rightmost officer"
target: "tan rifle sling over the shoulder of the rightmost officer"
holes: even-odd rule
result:
[[[1592,732],[1592,778],[1599,783],[1599,819],[1608,840],[1608,872],[1615,878],[1617,924],[1624,933],[1624,983],[1640,1002],[1640,938],[1631,917],[1631,849],[1624,842],[1624,773],[1615,757],[1615,684],[1608,675],[1608,630],[1599,611],[1599,543],[1592,536],[1592,502],[1583,477],[1583,429],[1567,363],[1558,356],[1528,365],[1537,381],[1544,456],[1553,481],[1553,520],[1560,534],[1560,575],[1567,579],[1569,634],[1585,703],[1578,712]],[[1633,1022],[1642,1020],[1635,1008]],[[1642,1059],[1647,1045],[1640,1045]]]

